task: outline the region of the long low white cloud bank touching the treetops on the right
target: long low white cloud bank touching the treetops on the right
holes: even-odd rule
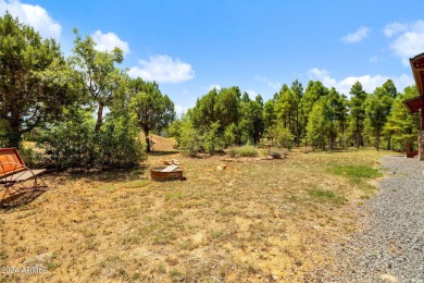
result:
[[[317,79],[323,83],[326,87],[335,87],[340,94],[349,95],[350,88],[357,82],[362,84],[362,88],[366,93],[373,93],[376,87],[381,87],[387,79],[391,79],[395,83],[398,91],[402,91],[403,88],[414,84],[414,81],[409,75],[400,75],[400,76],[383,76],[383,75],[363,75],[363,76],[348,76],[340,81],[331,77],[328,71],[324,69],[311,69],[308,71],[308,76],[311,79]]]

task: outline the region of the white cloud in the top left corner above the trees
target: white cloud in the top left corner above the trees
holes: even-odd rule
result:
[[[43,38],[60,40],[62,26],[42,7],[23,4],[17,0],[0,0],[0,14],[3,15],[7,11],[17,16],[20,22],[33,26]]]

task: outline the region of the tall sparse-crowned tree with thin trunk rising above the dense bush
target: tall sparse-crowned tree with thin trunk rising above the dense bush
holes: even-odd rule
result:
[[[78,70],[87,99],[97,104],[95,131],[99,132],[104,108],[112,106],[116,96],[125,93],[122,89],[125,86],[123,81],[125,76],[115,66],[115,63],[122,63],[124,60],[123,52],[120,48],[114,48],[111,52],[98,51],[91,37],[83,39],[76,28],[74,34],[76,39],[71,63]]]

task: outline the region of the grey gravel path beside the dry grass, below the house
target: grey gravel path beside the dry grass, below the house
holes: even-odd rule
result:
[[[379,193],[363,206],[363,231],[332,247],[339,262],[317,271],[320,281],[424,282],[424,162],[385,157],[383,168]]]

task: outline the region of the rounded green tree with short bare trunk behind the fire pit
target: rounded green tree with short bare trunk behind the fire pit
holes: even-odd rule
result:
[[[130,101],[130,109],[137,115],[137,123],[146,136],[147,151],[151,151],[149,132],[161,131],[174,119],[174,102],[162,95],[157,83],[142,82],[141,91],[136,94]]]

